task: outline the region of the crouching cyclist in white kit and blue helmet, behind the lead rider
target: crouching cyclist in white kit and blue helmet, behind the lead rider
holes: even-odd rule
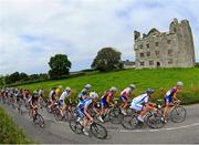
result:
[[[145,114],[149,110],[156,110],[153,107],[153,103],[150,103],[148,101],[153,93],[154,93],[153,89],[147,89],[145,94],[142,94],[142,95],[133,99],[133,101],[132,101],[130,108],[133,108],[137,112],[140,111],[140,114],[137,117],[139,122],[144,122]]]

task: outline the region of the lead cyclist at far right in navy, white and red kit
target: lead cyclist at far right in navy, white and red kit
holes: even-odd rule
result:
[[[169,107],[172,105],[172,99],[174,100],[177,100],[177,92],[179,92],[182,87],[184,83],[182,82],[177,82],[176,86],[170,89],[166,95],[165,95],[165,108],[164,108],[164,117],[163,117],[163,121],[166,123],[166,117],[168,115],[168,112],[169,112]],[[180,101],[179,101],[180,102]]]

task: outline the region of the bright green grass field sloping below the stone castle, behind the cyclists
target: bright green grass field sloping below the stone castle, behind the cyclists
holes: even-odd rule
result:
[[[41,82],[20,87],[28,87],[30,90],[39,90],[41,87],[49,91],[53,86],[63,85],[71,86],[73,96],[83,89],[86,83],[92,84],[92,91],[98,92],[101,95],[111,86],[116,86],[122,91],[130,83],[136,84],[133,96],[144,92],[147,87],[156,91],[153,99],[163,97],[165,92],[175,86],[177,81],[184,82],[184,89],[179,93],[182,103],[197,103],[199,102],[199,68],[192,69],[158,69],[158,70],[125,70],[109,73],[94,73],[84,76]],[[118,95],[118,94],[117,94]]]

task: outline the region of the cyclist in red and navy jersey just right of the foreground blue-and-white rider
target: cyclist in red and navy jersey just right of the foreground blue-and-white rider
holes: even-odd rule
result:
[[[101,97],[101,113],[98,116],[98,120],[101,122],[104,122],[102,116],[105,114],[105,111],[108,106],[113,106],[114,105],[114,95],[117,92],[117,89],[115,86],[112,86],[106,93],[105,95],[103,95]]]

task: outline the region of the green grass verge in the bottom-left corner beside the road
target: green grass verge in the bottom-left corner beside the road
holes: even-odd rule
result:
[[[23,131],[17,126],[12,118],[0,106],[0,143],[1,144],[31,144]]]

